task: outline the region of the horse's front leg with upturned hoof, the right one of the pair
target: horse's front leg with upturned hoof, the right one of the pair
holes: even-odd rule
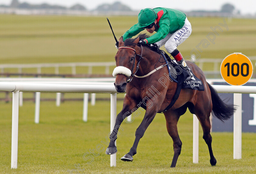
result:
[[[155,118],[156,113],[157,113],[156,109],[147,109],[146,110],[145,116],[144,116],[142,122],[140,123],[140,126],[137,128],[137,130],[135,132],[135,140],[134,140],[133,146],[130,149],[129,153],[125,154],[121,158],[122,161],[133,161],[132,156],[137,153],[137,146],[140,141],[140,138],[143,137],[146,129],[148,128],[150,123]]]

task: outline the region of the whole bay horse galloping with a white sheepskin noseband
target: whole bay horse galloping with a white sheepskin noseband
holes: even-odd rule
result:
[[[177,83],[174,81],[167,80],[165,85],[159,83],[158,80],[164,76],[164,73],[168,74],[166,67],[151,73],[152,70],[164,65],[165,62],[159,61],[161,58],[159,53],[153,51],[147,45],[138,43],[146,37],[148,37],[146,34],[141,34],[135,39],[129,38],[125,41],[121,37],[119,39],[119,50],[115,56],[116,68],[113,76],[116,76],[116,80],[114,85],[119,93],[126,91],[126,96],[123,101],[123,109],[117,115],[114,130],[110,134],[110,142],[106,149],[106,154],[115,154],[117,152],[115,141],[123,120],[133,112],[136,112],[139,107],[146,110],[144,118],[135,132],[133,146],[121,158],[123,161],[133,161],[133,155],[137,153],[140,138],[143,137],[145,130],[155,118],[156,113],[162,112],[169,105],[177,89]],[[192,62],[188,66],[194,75],[202,81],[204,91],[183,88],[175,104],[164,112],[167,131],[173,140],[174,155],[171,167],[176,166],[182,145],[177,130],[177,122],[180,116],[187,111],[187,108],[197,116],[201,123],[203,139],[210,153],[210,164],[214,166],[216,165],[216,159],[212,152],[210,113],[212,112],[215,117],[223,121],[233,115],[235,108],[234,105],[225,104],[219,98],[216,90],[206,82],[204,73],[198,66]],[[148,73],[151,74],[149,75]],[[142,76],[143,78],[136,76]]]

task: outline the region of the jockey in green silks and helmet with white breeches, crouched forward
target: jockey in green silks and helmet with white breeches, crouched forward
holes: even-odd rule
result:
[[[185,81],[190,80],[193,74],[185,63],[180,51],[177,50],[177,46],[185,41],[192,31],[191,24],[187,20],[186,15],[183,12],[169,8],[142,9],[138,15],[138,23],[123,34],[123,40],[137,35],[144,29],[149,33],[154,31],[156,33],[147,39],[140,40],[140,43],[156,43],[158,48],[165,44],[165,49],[189,74]],[[118,45],[116,46],[118,47]]]

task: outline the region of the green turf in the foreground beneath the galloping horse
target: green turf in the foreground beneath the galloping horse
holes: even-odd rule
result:
[[[120,94],[119,94],[120,95]],[[172,139],[165,128],[165,118],[158,114],[140,140],[133,162],[123,162],[134,141],[135,130],[144,113],[132,123],[123,122],[117,139],[117,166],[110,167],[110,157],[94,150],[94,161],[83,155],[98,144],[103,148],[110,132],[110,102],[96,101],[90,106],[88,122],[82,121],[82,102],[66,101],[60,107],[54,101],[41,101],[40,123],[34,123],[34,103],[19,108],[18,168],[11,169],[12,104],[1,102],[0,173],[68,173],[80,164],[80,173],[253,173],[256,172],[256,134],[242,133],[242,159],[233,159],[233,133],[212,133],[212,148],[217,166],[209,162],[207,145],[199,131],[199,163],[193,164],[193,117],[186,113],[178,123],[183,146],[175,169],[169,168],[173,156]],[[101,108],[100,110],[98,108]],[[117,103],[117,112],[122,101]],[[109,138],[108,138],[109,140]],[[91,154],[92,155],[92,154]],[[89,157],[90,155],[85,155]],[[75,172],[73,172],[75,173]]]

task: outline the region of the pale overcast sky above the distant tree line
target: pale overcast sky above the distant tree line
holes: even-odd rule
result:
[[[11,0],[0,0],[0,4],[9,5]],[[114,2],[121,2],[129,6],[133,10],[140,10],[144,8],[167,7],[173,9],[180,9],[184,11],[190,10],[220,10],[225,3],[230,3],[240,10],[242,14],[255,14],[256,1],[255,0],[19,0],[19,2],[29,2],[31,4],[58,4],[70,7],[76,3],[84,5],[88,10],[95,9],[98,5],[103,3],[112,4]]]

